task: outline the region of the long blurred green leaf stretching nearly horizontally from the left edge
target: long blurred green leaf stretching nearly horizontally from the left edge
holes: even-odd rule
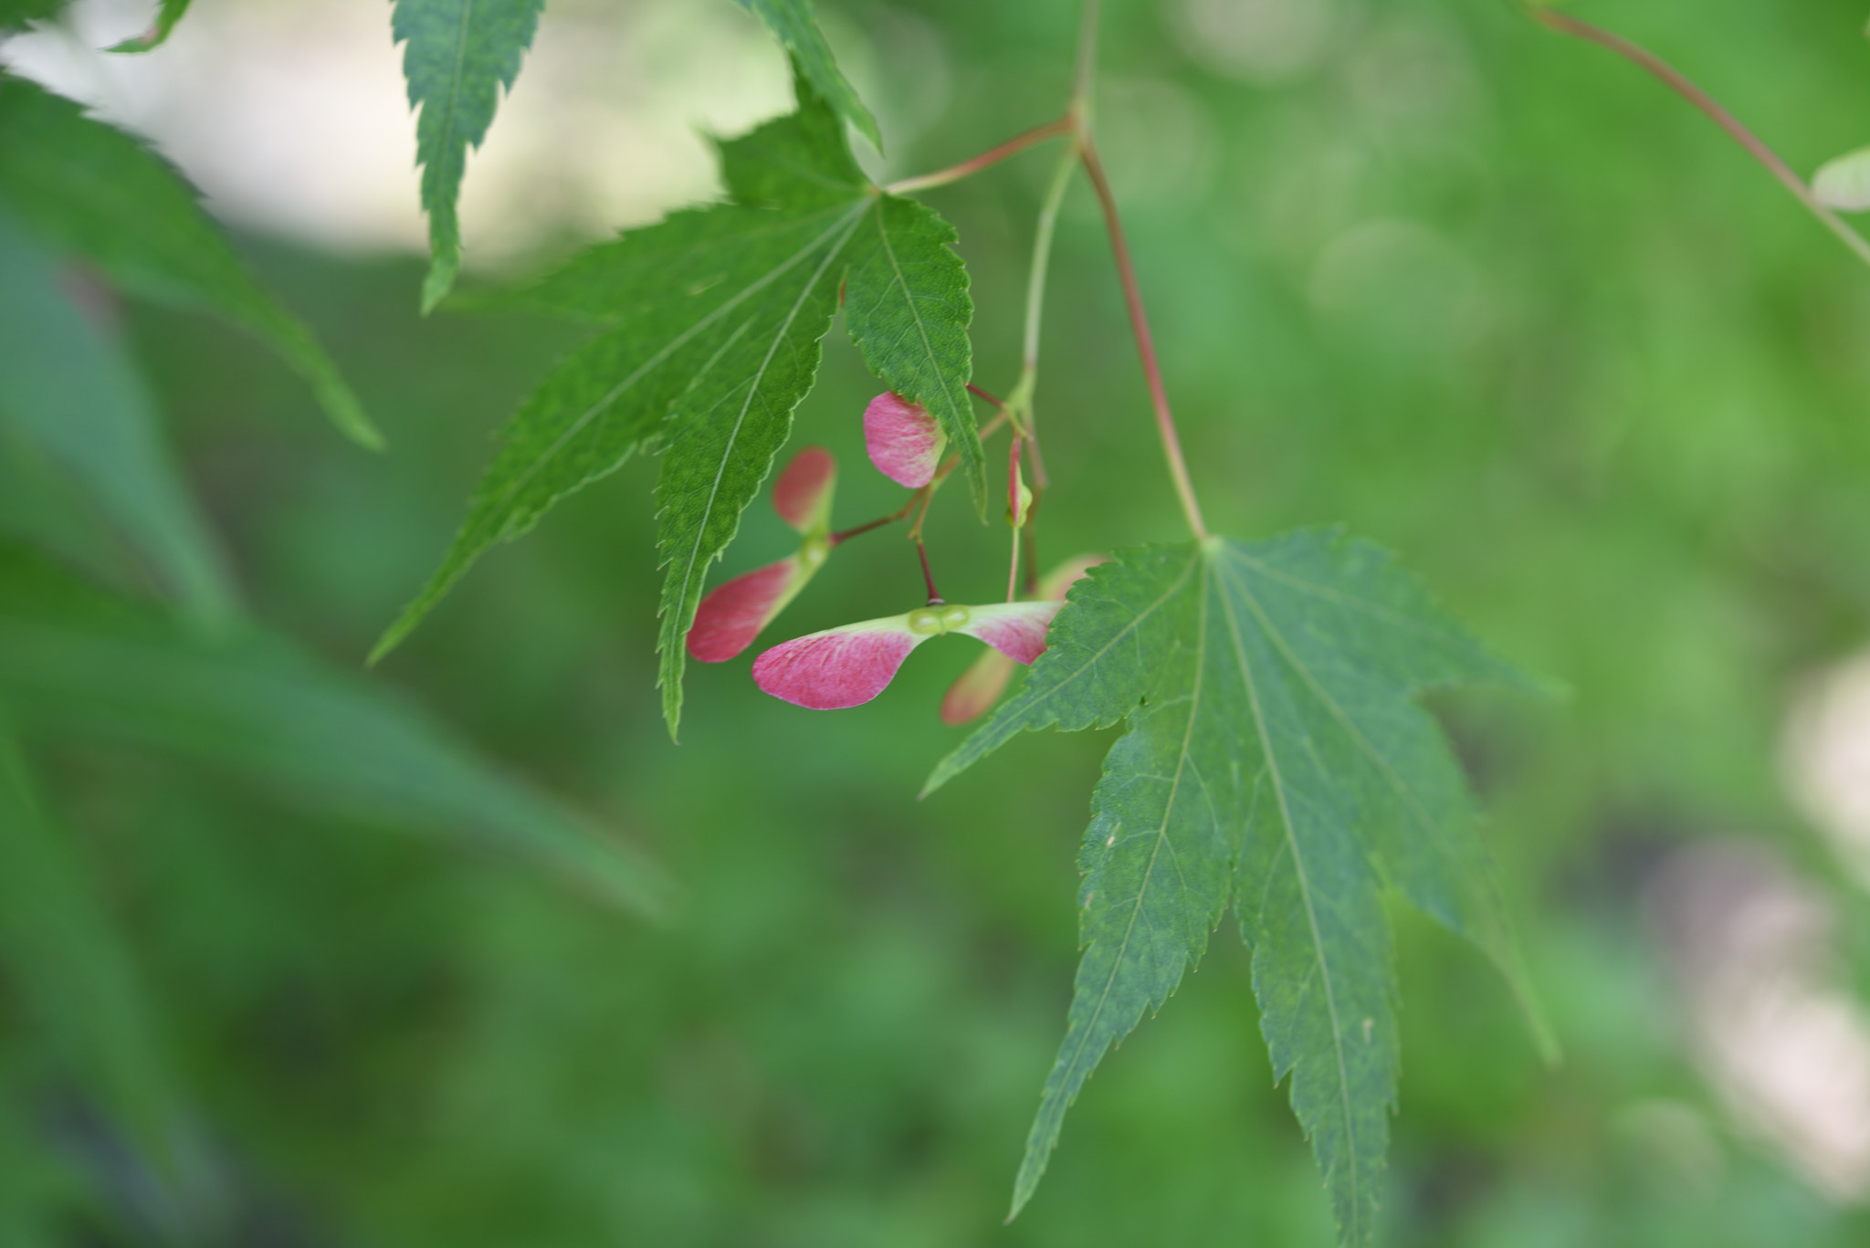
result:
[[[0,696],[26,735],[120,741],[544,868],[645,915],[662,872],[456,741],[286,642],[202,640],[0,548]]]

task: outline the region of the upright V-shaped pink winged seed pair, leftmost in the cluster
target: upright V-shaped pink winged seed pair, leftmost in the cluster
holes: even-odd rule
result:
[[[772,485],[772,509],[798,530],[798,550],[778,563],[755,567],[716,586],[696,606],[688,653],[701,662],[726,662],[754,644],[759,631],[798,597],[825,565],[836,537],[830,533],[830,498],[838,485],[838,460],[825,447],[806,447]]]

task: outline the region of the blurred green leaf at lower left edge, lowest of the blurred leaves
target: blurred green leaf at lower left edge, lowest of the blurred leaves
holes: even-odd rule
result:
[[[0,956],[41,1042],[170,1184],[200,1162],[181,1081],[71,834],[56,827],[0,724]]]

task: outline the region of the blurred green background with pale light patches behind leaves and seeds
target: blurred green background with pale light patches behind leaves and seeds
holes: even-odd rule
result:
[[[1068,86],[1064,0],[821,7],[890,176],[1051,118]],[[1487,965],[1397,907],[1382,1242],[1870,1242],[1870,273],[1705,118],[1502,0],[1105,9],[1101,140],[1210,524],[1345,524],[1567,690],[1436,702],[1565,1061],[1541,1067]],[[1795,168],[1870,138],[1853,0],[1576,11]],[[576,337],[415,314],[385,4],[196,0],[151,56],[94,51],[146,22],[80,4],[0,60],[185,168],[391,451],[342,442],[252,339],[82,273],[71,290],[140,374],[254,644],[453,754],[415,752],[415,797],[378,776],[346,801],[357,769],[415,767],[370,711],[123,649],[165,614],[148,571],[80,485],[0,443],[0,700],[22,741],[0,763],[36,793],[30,829],[17,805],[0,821],[0,1241],[1330,1244],[1229,924],[1000,1226],[1109,735],[1019,741],[916,803],[967,647],[838,715],[761,696],[746,659],[692,670],[671,745],[654,464],[632,462],[363,674],[490,432]],[[469,163],[469,281],[705,200],[703,133],[785,105],[776,45],[726,0],[552,0]],[[1017,369],[1047,170],[1027,155],[929,196],[961,232],[989,389]],[[862,457],[873,384],[827,342],[797,438],[840,457],[838,518],[858,522],[898,496]],[[1040,402],[1045,559],[1174,539],[1085,187]],[[1004,535],[942,501],[944,588],[987,597]],[[755,507],[724,574],[787,548]],[[21,623],[34,578],[101,597]],[[909,546],[870,537],[778,634],[916,588]],[[204,735],[204,698],[335,728],[256,762]],[[666,917],[475,833],[557,812],[658,863]]]

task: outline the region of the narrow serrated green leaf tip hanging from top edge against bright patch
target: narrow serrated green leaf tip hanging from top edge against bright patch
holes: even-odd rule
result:
[[[462,268],[456,200],[468,148],[494,123],[501,88],[512,90],[546,0],[396,0],[391,30],[404,43],[402,77],[415,120],[415,163],[423,167],[423,211],[434,260],[423,279],[423,311],[454,286]]]

